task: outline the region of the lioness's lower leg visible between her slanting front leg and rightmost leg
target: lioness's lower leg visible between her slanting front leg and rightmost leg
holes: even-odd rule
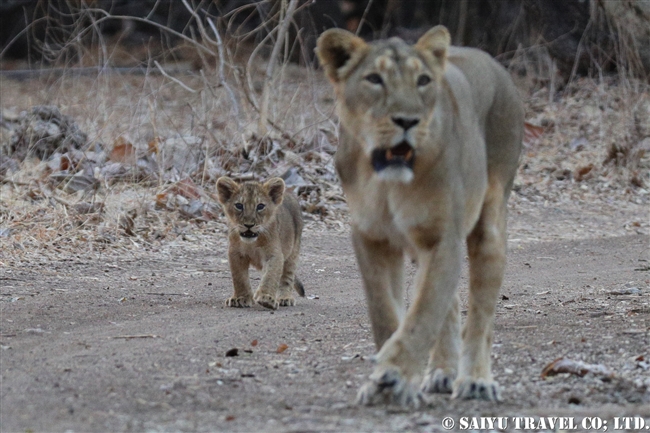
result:
[[[422,392],[451,394],[458,374],[460,346],[460,299],[456,294],[436,345],[431,350],[420,387]]]

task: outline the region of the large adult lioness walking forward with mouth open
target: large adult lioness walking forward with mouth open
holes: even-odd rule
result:
[[[368,44],[339,29],[318,39],[337,97],[335,163],[379,350],[362,404],[388,398],[417,407],[412,380],[423,370],[424,392],[499,399],[490,350],[524,110],[500,65],[449,44],[442,26],[413,46],[398,38]],[[470,287],[461,348],[464,241]],[[408,311],[404,252],[418,264]]]

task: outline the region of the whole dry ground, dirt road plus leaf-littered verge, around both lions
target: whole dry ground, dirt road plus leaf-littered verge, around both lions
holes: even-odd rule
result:
[[[2,79],[2,158],[5,121],[42,104],[109,154],[119,137],[138,161],[164,162],[149,144],[165,140],[203,153],[198,170],[161,165],[145,184],[114,183],[104,171],[134,161],[83,157],[79,167],[100,184],[91,194],[51,182],[58,160],[0,173],[0,430],[440,431],[443,417],[470,415],[597,415],[610,431],[612,417],[637,415],[650,425],[647,85],[584,80],[561,97],[523,92],[542,135],[526,144],[509,202],[493,350],[504,401],[435,396],[403,412],[353,404],[374,348],[332,167],[331,91],[318,77],[284,71],[273,120],[293,135],[270,140],[251,138],[255,112],[243,97],[234,119],[224,87],[197,75],[177,77],[196,93],[153,76]],[[273,313],[227,309],[214,180],[287,169],[302,176],[308,297]],[[188,177],[189,193],[178,184]],[[198,214],[188,212],[195,202]],[[91,203],[102,210],[88,213]],[[559,357],[612,375],[542,380]]]

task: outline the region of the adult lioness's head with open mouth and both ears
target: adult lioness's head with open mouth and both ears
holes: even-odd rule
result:
[[[415,45],[399,38],[368,44],[331,29],[316,52],[339,102],[346,131],[364,144],[380,178],[410,182],[427,143],[447,61],[449,32],[437,26]]]

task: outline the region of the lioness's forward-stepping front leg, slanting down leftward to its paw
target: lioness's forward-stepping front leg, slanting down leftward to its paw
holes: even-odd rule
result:
[[[419,391],[412,379],[424,366],[454,302],[460,251],[460,241],[453,238],[418,251],[416,297],[397,331],[377,354],[370,381],[359,390],[360,403],[388,399],[402,406],[419,406]]]

